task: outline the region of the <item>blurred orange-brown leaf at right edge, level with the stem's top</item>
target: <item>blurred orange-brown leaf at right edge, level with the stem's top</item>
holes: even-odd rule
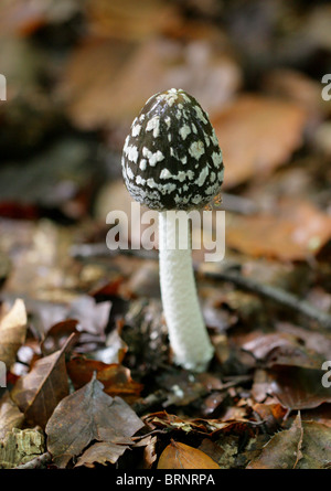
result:
[[[307,201],[284,200],[273,215],[227,216],[227,246],[248,256],[305,260],[331,238],[331,217]]]

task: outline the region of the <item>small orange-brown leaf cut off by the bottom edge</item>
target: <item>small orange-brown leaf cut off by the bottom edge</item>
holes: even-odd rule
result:
[[[171,440],[160,456],[158,469],[220,469],[220,467],[203,451]]]

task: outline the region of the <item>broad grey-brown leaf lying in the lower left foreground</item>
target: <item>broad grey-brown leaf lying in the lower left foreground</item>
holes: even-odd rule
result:
[[[55,408],[46,434],[47,448],[57,467],[65,468],[93,440],[129,445],[131,436],[142,428],[143,423],[130,406],[120,397],[108,396],[103,388],[94,376]]]

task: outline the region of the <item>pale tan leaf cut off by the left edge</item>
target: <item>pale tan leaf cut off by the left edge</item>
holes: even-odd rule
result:
[[[0,320],[0,360],[9,369],[25,341],[26,311],[23,300],[17,299],[10,311]]]

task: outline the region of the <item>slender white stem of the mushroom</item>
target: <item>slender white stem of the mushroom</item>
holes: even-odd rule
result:
[[[189,221],[186,221],[189,226]],[[167,236],[177,237],[174,220],[159,213],[160,285],[163,312],[174,362],[186,370],[206,369],[214,350],[202,318],[192,267],[190,238],[185,249],[167,246]],[[188,236],[189,231],[188,231]]]

